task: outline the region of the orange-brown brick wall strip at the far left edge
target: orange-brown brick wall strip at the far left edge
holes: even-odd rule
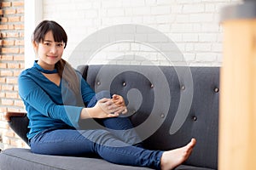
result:
[[[24,69],[24,2],[0,1],[0,149],[26,147],[4,120],[6,111],[23,111],[17,77]]]

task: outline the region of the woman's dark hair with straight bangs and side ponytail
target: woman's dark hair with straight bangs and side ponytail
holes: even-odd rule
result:
[[[47,32],[52,31],[55,42],[64,42],[64,48],[67,46],[67,33],[66,31],[56,23],[54,20],[43,20],[38,24],[32,34],[32,42],[44,42],[44,37]],[[69,87],[75,94],[80,92],[79,78],[74,71],[73,67],[67,63],[65,59],[60,59],[55,68],[61,78],[69,83]]]

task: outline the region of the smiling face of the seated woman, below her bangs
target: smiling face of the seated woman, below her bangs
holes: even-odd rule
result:
[[[33,47],[38,55],[38,65],[44,69],[53,70],[55,64],[61,59],[64,42],[55,42],[52,31],[45,34],[42,42],[33,42]]]

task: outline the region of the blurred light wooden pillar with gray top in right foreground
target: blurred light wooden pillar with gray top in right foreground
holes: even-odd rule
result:
[[[256,169],[256,2],[223,10],[219,170]]]

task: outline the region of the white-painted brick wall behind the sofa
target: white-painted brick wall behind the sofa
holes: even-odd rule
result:
[[[73,54],[79,42],[96,31],[120,24],[154,28],[169,37],[183,54],[174,63],[188,65],[221,65],[222,27],[219,10],[241,0],[44,0],[43,18],[55,20],[65,28],[68,43],[65,59]],[[157,41],[157,36],[155,37]],[[119,59],[114,59],[121,56]],[[132,57],[133,56],[133,57]],[[142,56],[157,65],[168,65],[165,57],[142,43],[116,42],[101,48],[94,63],[143,63]],[[81,63],[80,58],[75,58]],[[74,60],[73,58],[71,60]]]

